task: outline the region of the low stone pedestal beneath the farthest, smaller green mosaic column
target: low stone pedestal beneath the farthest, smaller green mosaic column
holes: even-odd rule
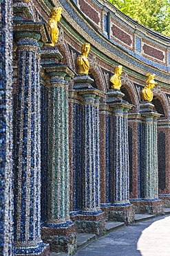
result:
[[[136,213],[154,214],[156,216],[163,214],[162,200],[160,199],[131,199]]]

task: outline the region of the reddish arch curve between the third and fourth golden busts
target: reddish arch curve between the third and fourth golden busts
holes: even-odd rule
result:
[[[129,103],[134,105],[134,107],[131,109],[130,112],[138,113],[139,109],[140,109],[140,103],[139,103],[138,94],[136,92],[136,88],[135,88],[133,82],[130,82],[129,79],[127,79],[127,77],[125,77],[122,80],[122,87],[121,87],[120,91],[122,91],[122,92],[125,91],[125,98],[123,98],[123,100],[126,100],[126,98],[130,98]],[[127,93],[126,93],[126,91],[127,91]]]

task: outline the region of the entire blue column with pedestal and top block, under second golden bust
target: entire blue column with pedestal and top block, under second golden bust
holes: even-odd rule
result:
[[[82,205],[74,216],[78,232],[102,235],[105,218],[100,210],[99,99],[103,93],[93,89],[92,78],[78,75],[74,82],[82,99]],[[76,129],[76,127],[74,127]],[[77,157],[77,156],[76,156]]]

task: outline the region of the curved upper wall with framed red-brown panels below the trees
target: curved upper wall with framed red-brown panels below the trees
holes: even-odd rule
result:
[[[107,1],[77,0],[76,4],[113,44],[143,62],[169,71],[169,37],[141,26]]]

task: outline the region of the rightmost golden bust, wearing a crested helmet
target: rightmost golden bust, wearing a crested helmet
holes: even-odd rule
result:
[[[155,86],[155,84],[157,84],[154,81],[154,77],[155,74],[150,74],[147,73],[147,82],[146,82],[146,86],[144,89],[142,89],[142,100],[145,101],[152,101],[153,100],[153,92],[151,91],[151,89]]]

